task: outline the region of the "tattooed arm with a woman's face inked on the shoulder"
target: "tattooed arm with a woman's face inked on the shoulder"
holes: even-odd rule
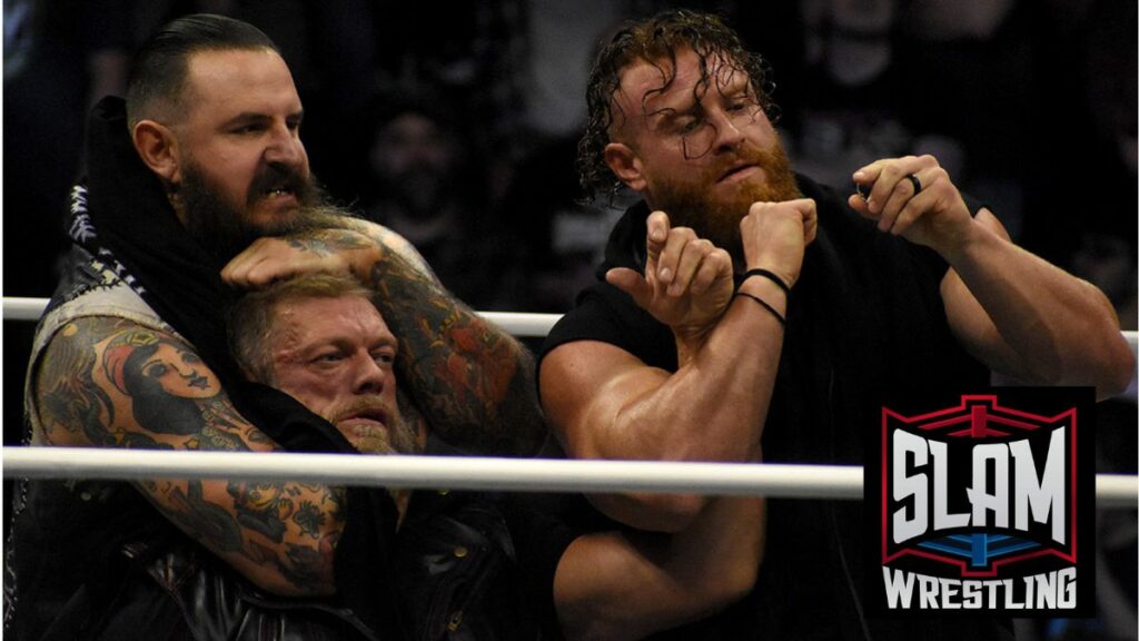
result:
[[[51,339],[34,374],[36,445],[271,452],[218,378],[181,339],[129,320],[84,317]],[[297,482],[144,480],[171,522],[260,587],[335,592],[343,490]]]

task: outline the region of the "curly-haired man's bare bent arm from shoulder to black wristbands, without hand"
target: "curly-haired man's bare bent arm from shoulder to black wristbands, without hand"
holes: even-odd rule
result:
[[[782,309],[782,294],[773,285],[748,281],[741,291],[768,297]],[[674,373],[646,367],[606,343],[555,349],[542,364],[542,398],[574,457],[752,461],[759,455],[781,341],[775,316],[739,298]],[[614,519],[661,532],[688,527],[706,502],[698,495],[663,494],[590,500]]]

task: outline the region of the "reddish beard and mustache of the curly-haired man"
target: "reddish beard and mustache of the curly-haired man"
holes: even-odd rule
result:
[[[714,185],[739,161],[761,167],[767,175],[763,184],[746,181],[729,202],[713,202],[707,186]],[[790,161],[776,139],[770,149],[744,143],[735,154],[724,154],[720,162],[704,169],[699,180],[689,185],[662,181],[656,188],[654,208],[669,214],[673,227],[691,227],[702,238],[724,250],[737,261],[743,260],[739,221],[755,202],[782,202],[803,197],[790,169]]]

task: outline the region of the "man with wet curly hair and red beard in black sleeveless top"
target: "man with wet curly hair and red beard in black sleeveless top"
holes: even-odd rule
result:
[[[541,400],[570,456],[858,464],[878,390],[983,386],[991,371],[1100,398],[1124,389],[1134,357],[1101,292],[1014,245],[932,156],[852,168],[857,194],[795,173],[771,89],[706,14],[632,24],[598,55],[582,185],[642,202],[543,347]],[[673,532],[719,501],[581,509]],[[865,616],[861,505],[764,508],[752,594],[680,638],[1010,635],[989,618]]]

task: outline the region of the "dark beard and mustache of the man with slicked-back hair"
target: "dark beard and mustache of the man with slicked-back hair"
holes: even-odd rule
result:
[[[269,224],[256,225],[241,211],[226,202],[195,162],[187,162],[178,197],[186,211],[186,230],[222,267],[263,236],[286,236],[313,229],[338,227],[335,224],[347,212],[327,202],[314,179],[281,165],[267,165],[249,185],[245,206],[252,209],[259,198],[281,187],[296,195],[300,209]]]

